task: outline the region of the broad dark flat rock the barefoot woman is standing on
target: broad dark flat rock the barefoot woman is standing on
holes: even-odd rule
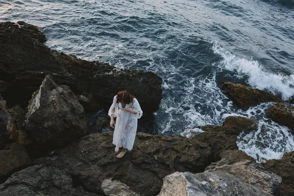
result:
[[[113,132],[91,134],[73,146],[55,151],[57,158],[43,157],[36,164],[49,164],[77,176],[86,190],[102,194],[103,180],[119,180],[141,196],[155,196],[162,180],[172,172],[203,172],[220,153],[237,149],[235,141],[217,132],[191,138],[137,133],[134,147],[118,159],[112,145]]]

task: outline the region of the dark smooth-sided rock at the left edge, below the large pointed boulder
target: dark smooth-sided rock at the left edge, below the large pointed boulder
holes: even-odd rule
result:
[[[25,147],[21,144],[6,145],[0,150],[0,157],[0,176],[32,164]]]

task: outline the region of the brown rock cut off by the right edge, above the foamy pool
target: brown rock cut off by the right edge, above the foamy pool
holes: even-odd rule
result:
[[[294,130],[294,106],[281,102],[272,105],[266,111],[267,117]]]

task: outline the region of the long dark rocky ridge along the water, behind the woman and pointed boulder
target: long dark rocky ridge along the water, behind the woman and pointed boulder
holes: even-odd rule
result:
[[[34,25],[0,23],[0,78],[10,85],[0,93],[12,105],[26,106],[45,75],[50,74],[57,84],[69,86],[76,95],[90,95],[99,107],[109,107],[118,91],[127,90],[138,98],[146,114],[158,110],[162,79],[156,74],[78,59],[49,49],[46,41]]]

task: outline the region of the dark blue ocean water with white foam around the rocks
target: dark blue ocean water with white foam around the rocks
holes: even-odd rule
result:
[[[292,131],[272,122],[273,103],[241,110],[220,81],[294,96],[292,0],[0,0],[0,22],[37,25],[46,45],[163,78],[154,114],[162,134],[187,137],[227,116],[258,120],[239,149],[257,161],[294,150]]]

